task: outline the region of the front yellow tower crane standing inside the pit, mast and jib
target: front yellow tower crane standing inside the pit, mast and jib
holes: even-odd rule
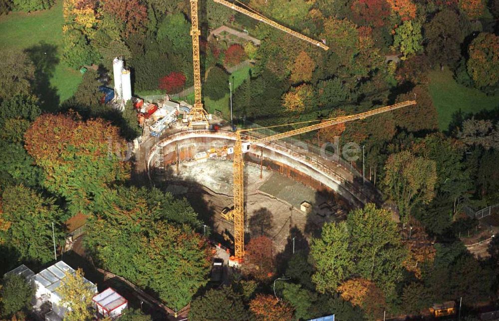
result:
[[[233,164],[233,178],[234,178],[234,209],[227,214],[224,215],[226,219],[234,220],[234,249],[235,256],[237,258],[242,258],[245,255],[245,221],[244,221],[244,160],[243,155],[250,151],[252,144],[261,144],[261,143],[269,143],[275,140],[279,140],[282,138],[299,135],[303,133],[308,133],[311,131],[315,131],[321,128],[343,124],[346,122],[351,122],[357,119],[364,119],[366,117],[371,117],[377,114],[386,113],[392,110],[396,110],[402,107],[415,105],[415,101],[405,101],[402,103],[398,103],[391,106],[385,106],[377,109],[370,110],[368,112],[343,116],[338,118],[331,118],[327,120],[323,120],[318,124],[313,124],[310,126],[306,126],[303,128],[295,129],[289,132],[275,134],[267,137],[259,137],[253,138],[251,136],[251,132],[264,128],[275,128],[281,126],[290,126],[290,125],[298,125],[305,124],[311,122],[301,122],[294,124],[285,124],[285,125],[277,125],[270,127],[262,127],[262,128],[254,128],[254,129],[242,129],[236,131],[236,144],[234,146],[234,164]],[[312,122],[319,122],[312,121]],[[244,135],[244,134],[248,135]],[[243,137],[243,135],[245,137]]]

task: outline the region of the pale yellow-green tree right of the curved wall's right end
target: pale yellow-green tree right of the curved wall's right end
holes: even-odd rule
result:
[[[435,197],[437,169],[434,160],[415,157],[404,151],[390,155],[385,171],[383,185],[397,204],[402,219],[410,217],[416,204],[427,204]]]

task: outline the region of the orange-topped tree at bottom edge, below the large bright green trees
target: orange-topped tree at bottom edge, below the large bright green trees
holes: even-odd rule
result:
[[[385,295],[374,282],[356,278],[343,282],[338,287],[341,298],[352,305],[361,307],[371,320],[377,320],[383,314]]]

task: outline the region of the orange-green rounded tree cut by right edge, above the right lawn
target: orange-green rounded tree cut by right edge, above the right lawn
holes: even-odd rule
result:
[[[477,87],[495,86],[499,82],[499,36],[482,32],[468,47],[468,73]]]

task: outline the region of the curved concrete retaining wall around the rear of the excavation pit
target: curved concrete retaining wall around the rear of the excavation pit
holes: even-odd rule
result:
[[[182,161],[192,159],[196,153],[212,147],[233,146],[235,140],[234,133],[228,131],[183,131],[172,134],[151,148],[146,158],[148,174],[152,160],[158,155],[160,148],[163,149],[165,164],[170,164],[177,160],[175,143],[178,145],[179,159]],[[282,142],[254,144],[250,153],[245,155],[245,160],[260,163],[260,149],[263,150],[266,166],[311,187],[335,191],[355,206],[366,202],[380,203],[376,188],[368,181],[363,188],[362,177],[359,179],[338,161],[326,160],[296,146],[286,146]]]

